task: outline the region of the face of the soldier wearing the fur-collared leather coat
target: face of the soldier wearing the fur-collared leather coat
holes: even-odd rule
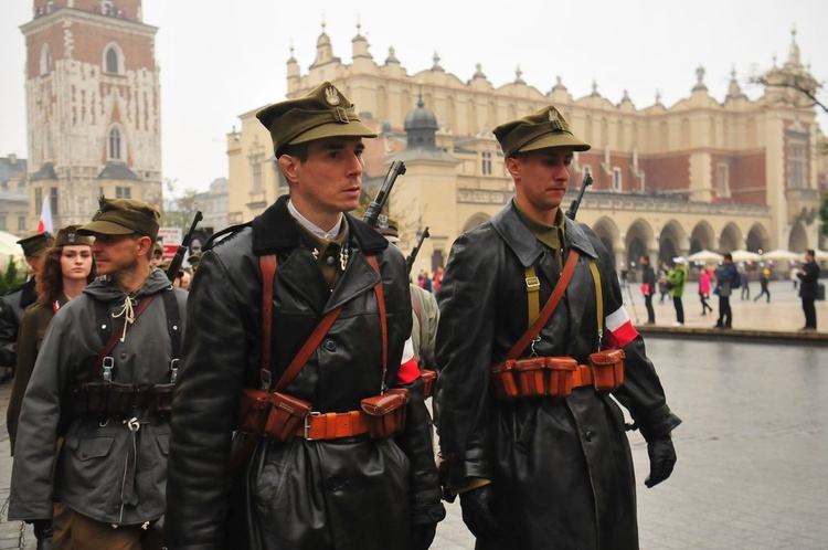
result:
[[[331,137],[308,144],[304,162],[288,155],[279,158],[291,181],[290,200],[302,215],[317,223],[315,216],[336,220],[341,212],[357,208],[365,168],[364,149],[360,137]]]

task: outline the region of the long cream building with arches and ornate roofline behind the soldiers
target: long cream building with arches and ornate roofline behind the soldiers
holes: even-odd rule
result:
[[[816,86],[795,38],[786,62],[766,76],[781,83],[797,75]],[[594,184],[578,220],[602,236],[619,269],[641,254],[669,262],[704,248],[819,247],[826,161],[816,146],[824,137],[814,107],[797,103],[784,87],[768,87],[751,101],[732,74],[726,97],[718,102],[699,67],[687,98],[670,107],[657,98],[637,108],[626,94],[614,104],[596,86],[574,98],[560,77],[545,93],[519,72],[514,82],[495,87],[478,65],[463,82],[439,65],[436,54],[431,68],[410,75],[393,49],[379,63],[359,28],[351,57],[346,64],[336,56],[322,29],[306,72],[293,55],[287,61],[287,95],[299,97],[331,81],[376,128],[380,137],[367,140],[368,190],[389,162],[405,161],[391,214],[404,229],[403,250],[429,228],[416,271],[444,265],[463,231],[510,200],[512,182],[491,129],[549,104],[593,146],[576,154],[564,204],[588,172]],[[231,223],[250,220],[287,191],[269,135],[255,118],[258,108],[243,114],[241,128],[227,136]]]

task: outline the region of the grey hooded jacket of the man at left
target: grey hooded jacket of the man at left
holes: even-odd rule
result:
[[[168,327],[162,293],[173,293],[180,320],[174,327]],[[110,353],[115,382],[144,387],[170,382],[171,335],[184,330],[187,293],[173,289],[163,272],[155,269],[135,299],[149,295],[156,297]],[[130,431],[126,417],[61,417],[71,384],[86,379],[108,340],[99,330],[102,309],[104,315],[117,315],[125,299],[112,282],[98,278],[52,319],[23,398],[9,519],[52,518],[52,499],[106,523],[137,525],[163,515],[168,419],[134,409],[138,429]],[[119,330],[121,319],[109,317],[112,331]],[[103,381],[103,373],[97,380]],[[67,429],[53,468],[62,421]]]

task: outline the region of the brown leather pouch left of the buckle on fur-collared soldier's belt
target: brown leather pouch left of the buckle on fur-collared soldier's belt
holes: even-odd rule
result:
[[[238,430],[288,442],[302,430],[311,409],[309,402],[287,393],[244,388],[238,404]]]

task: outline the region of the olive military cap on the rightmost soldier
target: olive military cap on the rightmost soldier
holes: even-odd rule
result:
[[[587,151],[592,147],[572,134],[570,124],[552,105],[518,120],[501,124],[492,131],[506,158],[549,147],[570,147],[575,151]]]

